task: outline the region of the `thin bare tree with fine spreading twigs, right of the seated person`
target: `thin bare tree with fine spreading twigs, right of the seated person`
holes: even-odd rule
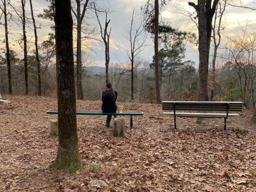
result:
[[[140,22],[136,29],[133,27],[135,9],[136,7],[133,7],[130,30],[127,31],[127,36],[125,37],[130,43],[130,50],[127,51],[127,54],[131,62],[131,100],[134,99],[134,59],[143,50],[147,39],[145,30],[142,26],[143,21]]]

